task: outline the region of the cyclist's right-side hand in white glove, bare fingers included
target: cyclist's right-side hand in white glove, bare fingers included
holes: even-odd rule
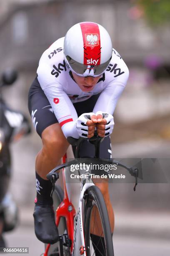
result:
[[[113,116],[107,113],[102,113],[102,111],[97,111],[97,134],[100,137],[109,136],[112,133],[114,120]]]

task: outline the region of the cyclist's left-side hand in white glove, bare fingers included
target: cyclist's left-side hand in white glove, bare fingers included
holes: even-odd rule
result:
[[[92,119],[92,120],[91,120]],[[97,120],[94,113],[84,113],[76,120],[77,132],[80,137],[91,138],[94,136]]]

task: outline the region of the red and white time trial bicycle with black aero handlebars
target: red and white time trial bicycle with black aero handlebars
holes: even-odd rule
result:
[[[135,187],[138,181],[138,169],[135,167],[128,167],[112,159],[100,159],[100,141],[102,138],[96,135],[89,139],[89,142],[95,146],[94,159],[98,162],[102,161],[105,164],[117,164],[128,170],[131,176],[135,177]],[[80,182],[80,196],[78,202],[77,213],[71,202],[70,195],[70,183],[66,182],[66,168],[72,164],[80,164],[89,162],[88,157],[85,159],[80,158],[80,147],[85,138],[74,139],[72,137],[67,138],[72,146],[76,146],[75,159],[66,162],[67,155],[62,158],[63,164],[54,168],[49,174],[47,179],[52,182],[53,206],[56,211],[56,225],[59,231],[59,241],[53,245],[45,244],[44,256],[114,256],[112,234],[110,229],[110,222],[107,213],[107,207],[105,205],[104,198],[100,189],[93,183],[90,173],[88,175],[85,171],[85,178]],[[94,160],[93,159],[93,160]],[[92,161],[92,160],[91,160]],[[62,169],[62,179],[64,185],[64,191],[55,182],[59,178],[58,171]],[[95,216],[100,216],[95,219]],[[97,221],[96,221],[97,220]],[[93,232],[90,230],[90,226],[93,226],[93,230],[100,230],[97,236],[104,239],[102,241],[102,247],[104,254],[100,252],[97,245],[92,242]],[[101,232],[102,227],[102,232]],[[99,239],[99,241],[100,241]],[[98,241],[98,243],[99,243]],[[103,242],[104,241],[104,242]]]

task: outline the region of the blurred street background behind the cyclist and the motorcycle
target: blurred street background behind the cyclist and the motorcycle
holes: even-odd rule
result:
[[[42,53],[75,23],[100,23],[128,65],[130,77],[114,113],[112,157],[170,158],[170,2],[168,0],[1,0],[0,72],[14,67],[19,78],[3,95],[7,104],[27,108],[30,84]],[[8,246],[43,253],[33,230],[35,157],[41,140],[32,133],[11,146],[10,191],[20,210],[20,225],[5,234]],[[69,155],[72,156],[71,150]],[[115,211],[115,255],[170,255],[169,183],[110,184]],[[74,184],[75,185],[75,184]],[[76,191],[73,189],[73,202]],[[35,246],[36,244],[36,246]]]

